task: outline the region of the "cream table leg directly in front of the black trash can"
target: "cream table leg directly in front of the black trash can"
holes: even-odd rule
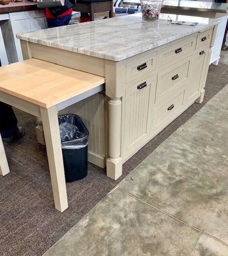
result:
[[[63,212],[68,208],[68,203],[57,107],[40,108],[40,112],[43,121],[55,208],[59,212]]]

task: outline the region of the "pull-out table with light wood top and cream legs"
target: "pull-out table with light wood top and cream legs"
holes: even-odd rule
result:
[[[29,59],[0,68],[0,101],[42,118],[55,208],[68,207],[58,110],[104,90],[104,77]],[[0,136],[0,174],[10,172]]]

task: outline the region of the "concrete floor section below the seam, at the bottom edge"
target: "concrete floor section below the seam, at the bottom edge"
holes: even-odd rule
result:
[[[226,256],[226,248],[116,189],[44,254],[53,255]]]

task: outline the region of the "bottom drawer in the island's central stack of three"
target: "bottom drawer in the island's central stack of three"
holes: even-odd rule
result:
[[[162,130],[183,111],[187,86],[179,90],[154,109],[152,133]]]

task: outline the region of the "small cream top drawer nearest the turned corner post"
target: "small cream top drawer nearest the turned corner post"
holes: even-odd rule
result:
[[[142,56],[126,64],[126,83],[156,69],[157,52]]]

